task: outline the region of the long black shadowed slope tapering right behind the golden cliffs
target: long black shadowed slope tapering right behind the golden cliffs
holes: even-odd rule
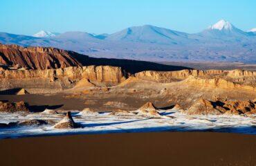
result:
[[[95,58],[79,53],[71,52],[71,56],[75,58],[82,66],[119,66],[129,73],[138,73],[140,71],[180,71],[183,69],[192,69],[184,66],[172,66],[166,64],[158,64],[155,62],[137,61],[129,59],[107,59]]]

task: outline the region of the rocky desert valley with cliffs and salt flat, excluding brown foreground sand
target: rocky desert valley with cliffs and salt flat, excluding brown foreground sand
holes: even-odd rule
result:
[[[198,70],[4,44],[0,53],[0,138],[147,131],[256,133],[253,65],[244,65],[248,70]]]

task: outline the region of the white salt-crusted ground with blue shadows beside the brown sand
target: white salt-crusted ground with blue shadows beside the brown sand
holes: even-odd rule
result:
[[[83,128],[54,129],[53,125],[39,127],[10,127],[0,129],[0,138],[48,136],[78,133],[123,133],[148,131],[221,131],[256,134],[256,116],[188,116],[176,110],[159,111],[160,117],[138,116],[133,113],[112,115],[109,112],[82,114],[72,112],[75,122]],[[63,116],[42,113],[0,113],[0,123],[24,120],[54,120]]]

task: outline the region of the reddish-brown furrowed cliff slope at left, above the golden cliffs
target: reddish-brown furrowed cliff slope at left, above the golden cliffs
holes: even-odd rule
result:
[[[82,66],[72,51],[56,48],[28,47],[0,44],[0,64],[17,68],[47,69]]]

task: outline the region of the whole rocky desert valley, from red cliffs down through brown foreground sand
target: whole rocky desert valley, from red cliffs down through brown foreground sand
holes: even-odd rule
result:
[[[255,165],[254,65],[0,55],[3,165]]]

